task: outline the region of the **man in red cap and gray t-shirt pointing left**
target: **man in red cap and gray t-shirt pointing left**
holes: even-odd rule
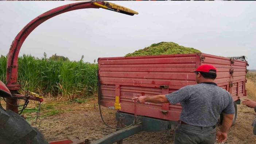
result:
[[[212,65],[201,65],[195,71],[197,85],[187,85],[166,95],[135,97],[139,103],[181,103],[182,112],[175,130],[175,144],[214,144],[227,139],[232,125],[234,105],[231,94],[214,83],[217,70]],[[216,123],[223,112],[220,131]]]

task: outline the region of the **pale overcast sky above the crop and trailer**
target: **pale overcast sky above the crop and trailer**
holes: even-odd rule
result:
[[[0,1],[0,54],[36,16],[75,1]],[[27,37],[20,55],[57,53],[93,62],[120,57],[152,43],[175,42],[224,57],[246,55],[256,69],[255,1],[114,1],[139,15],[79,9],[55,16]]]

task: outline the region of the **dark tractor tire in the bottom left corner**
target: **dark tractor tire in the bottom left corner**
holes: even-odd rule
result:
[[[4,144],[49,144],[38,129],[19,114],[0,108],[0,141]]]

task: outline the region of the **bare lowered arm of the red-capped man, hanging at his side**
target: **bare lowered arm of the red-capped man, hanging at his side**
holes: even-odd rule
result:
[[[223,113],[223,121],[220,131],[216,133],[218,143],[224,142],[228,138],[228,130],[232,126],[234,114]]]

